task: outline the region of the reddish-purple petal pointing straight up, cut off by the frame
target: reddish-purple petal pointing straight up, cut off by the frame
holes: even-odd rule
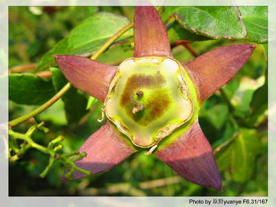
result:
[[[172,56],[166,27],[153,6],[135,8],[134,38],[134,57]]]

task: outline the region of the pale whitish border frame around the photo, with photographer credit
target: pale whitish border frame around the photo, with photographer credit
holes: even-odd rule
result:
[[[146,6],[140,0],[139,5]],[[135,0],[0,0],[0,198],[1,206],[207,206],[189,199],[268,199],[276,206],[276,1],[275,0],[152,0],[155,6],[268,6],[268,197],[8,197],[8,6],[135,6]],[[273,150],[274,149],[274,150]],[[221,204],[212,204],[221,206]],[[234,204],[226,205],[234,206]],[[238,206],[252,206],[239,204]]]

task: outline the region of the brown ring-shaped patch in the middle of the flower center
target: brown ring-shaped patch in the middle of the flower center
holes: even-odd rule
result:
[[[120,105],[137,124],[148,126],[150,122],[163,115],[171,103],[168,90],[162,88],[165,83],[166,80],[160,72],[157,72],[155,75],[132,75],[126,82],[123,94],[121,95]],[[150,98],[147,100],[144,99],[144,88],[150,89]],[[135,99],[137,90],[143,92],[143,96]],[[133,113],[134,103],[135,106],[143,103],[143,108]]]

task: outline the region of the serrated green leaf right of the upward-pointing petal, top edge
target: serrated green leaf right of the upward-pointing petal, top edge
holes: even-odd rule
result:
[[[170,9],[170,12],[186,30],[211,39],[246,37],[246,27],[239,18],[237,7],[185,6]]]

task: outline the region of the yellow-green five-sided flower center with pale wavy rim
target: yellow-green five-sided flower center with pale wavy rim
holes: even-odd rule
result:
[[[158,144],[193,115],[183,72],[170,57],[126,59],[110,84],[106,116],[136,146]]]

